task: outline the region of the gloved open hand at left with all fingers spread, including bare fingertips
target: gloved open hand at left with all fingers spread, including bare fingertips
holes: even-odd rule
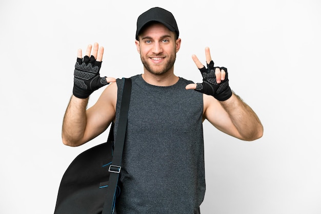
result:
[[[97,89],[115,82],[112,77],[100,77],[99,70],[102,66],[104,47],[99,48],[95,42],[93,52],[92,45],[88,45],[86,55],[83,59],[82,49],[78,50],[77,61],[74,70],[73,95],[78,98],[88,98]],[[90,57],[89,57],[90,56]]]

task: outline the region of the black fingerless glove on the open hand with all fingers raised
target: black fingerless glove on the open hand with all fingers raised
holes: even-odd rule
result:
[[[106,77],[99,76],[102,62],[96,61],[94,56],[77,58],[74,71],[73,95],[87,98],[97,89],[109,84]]]

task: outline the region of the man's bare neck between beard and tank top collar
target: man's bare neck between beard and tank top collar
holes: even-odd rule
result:
[[[174,75],[173,72],[166,72],[164,74],[152,74],[148,71],[144,71],[142,77],[148,84],[162,87],[173,85],[179,79],[179,77]]]

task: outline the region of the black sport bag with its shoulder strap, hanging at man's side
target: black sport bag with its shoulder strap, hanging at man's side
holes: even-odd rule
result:
[[[107,142],[89,148],[71,162],[58,189],[54,214],[115,213],[131,94],[131,79],[123,80],[116,139],[112,122]]]

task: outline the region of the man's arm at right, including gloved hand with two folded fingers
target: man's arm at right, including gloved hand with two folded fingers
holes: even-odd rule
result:
[[[263,126],[254,111],[228,84],[228,73],[224,67],[214,67],[207,47],[205,49],[207,69],[193,55],[192,58],[203,76],[203,83],[188,84],[186,89],[204,93],[204,119],[208,119],[218,130],[241,140],[252,141],[263,135]]]

